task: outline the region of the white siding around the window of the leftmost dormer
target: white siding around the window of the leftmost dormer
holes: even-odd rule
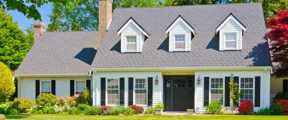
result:
[[[126,36],[137,36],[136,37],[136,51],[141,52],[141,50],[140,50],[140,37],[141,37],[141,35],[142,35],[141,31],[132,22],[130,22],[128,24],[128,26],[121,32],[121,52],[127,52],[125,50],[125,48],[126,48],[125,37]],[[141,48],[142,48],[142,46],[141,46]]]

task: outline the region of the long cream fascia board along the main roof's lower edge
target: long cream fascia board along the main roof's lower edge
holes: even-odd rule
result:
[[[271,66],[260,67],[152,67],[152,68],[93,68],[92,71],[176,71],[176,70],[271,70]]]

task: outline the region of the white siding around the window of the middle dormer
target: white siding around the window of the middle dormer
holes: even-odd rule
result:
[[[182,21],[178,21],[177,24],[169,31],[169,52],[174,50],[174,35],[185,34],[185,51],[190,51],[191,46],[191,31]]]

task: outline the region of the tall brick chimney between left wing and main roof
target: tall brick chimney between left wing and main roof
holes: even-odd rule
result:
[[[99,0],[99,45],[112,20],[113,0]]]

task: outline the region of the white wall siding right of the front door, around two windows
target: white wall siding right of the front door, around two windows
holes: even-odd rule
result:
[[[269,87],[270,87],[270,71],[264,70],[259,71],[206,71],[206,72],[195,72],[195,112],[204,112],[206,107],[203,106],[203,95],[204,95],[204,77],[225,77],[230,76],[233,73],[234,76],[239,76],[239,81],[241,77],[255,77],[260,76],[260,107],[254,107],[254,111],[258,111],[260,108],[269,107]],[[197,84],[198,76],[200,76],[201,84]],[[255,80],[255,78],[254,78]],[[254,90],[255,92],[255,90]],[[255,95],[255,94],[253,94]],[[223,95],[224,96],[224,95]],[[253,99],[254,100],[254,99]],[[230,100],[230,106],[232,106],[232,101]],[[226,108],[226,107],[225,107]],[[229,108],[230,109],[230,108]]]

